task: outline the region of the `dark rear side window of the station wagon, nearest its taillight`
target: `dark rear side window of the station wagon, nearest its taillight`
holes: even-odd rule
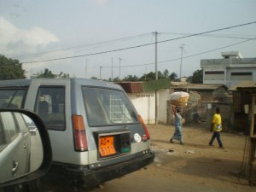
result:
[[[35,111],[49,130],[64,131],[65,87],[42,86],[38,89]]]

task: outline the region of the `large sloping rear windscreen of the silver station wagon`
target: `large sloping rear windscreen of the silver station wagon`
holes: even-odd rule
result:
[[[133,124],[137,115],[120,90],[83,87],[84,105],[90,126]]]

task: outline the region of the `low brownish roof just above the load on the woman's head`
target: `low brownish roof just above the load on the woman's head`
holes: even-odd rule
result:
[[[225,87],[224,84],[181,84],[172,85],[173,89],[188,89],[188,90],[217,90],[219,87]]]

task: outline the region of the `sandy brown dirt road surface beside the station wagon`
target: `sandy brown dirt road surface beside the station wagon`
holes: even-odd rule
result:
[[[171,125],[148,125],[148,131],[156,154],[154,164],[91,191],[256,192],[256,186],[249,186],[246,177],[238,177],[246,142],[243,134],[223,132],[221,149],[217,141],[208,146],[212,133],[204,125],[184,126],[184,145],[169,143],[174,131]]]

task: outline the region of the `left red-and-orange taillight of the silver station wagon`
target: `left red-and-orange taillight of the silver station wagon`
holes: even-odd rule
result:
[[[88,143],[82,115],[73,115],[73,134],[75,149],[77,151],[87,151]]]

